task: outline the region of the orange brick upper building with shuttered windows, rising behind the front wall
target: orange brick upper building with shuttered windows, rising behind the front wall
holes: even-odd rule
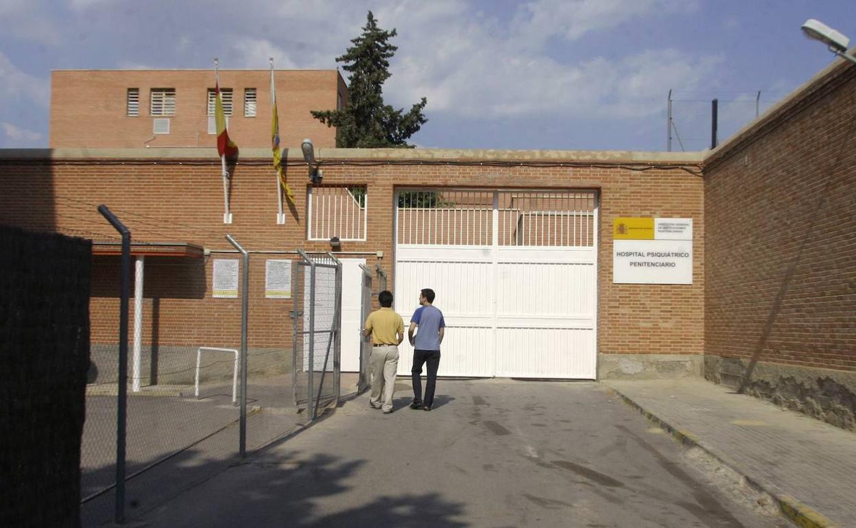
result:
[[[348,100],[337,70],[276,70],[280,144],[336,146],[336,128],[310,114]],[[55,70],[51,148],[196,147],[216,143],[211,69]],[[220,70],[229,137],[270,147],[270,70]]]

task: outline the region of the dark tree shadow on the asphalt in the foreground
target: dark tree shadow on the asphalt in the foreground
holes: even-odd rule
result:
[[[366,463],[330,454],[306,457],[299,452],[265,450],[246,460],[234,460],[228,471],[155,508],[144,522],[170,527],[465,526],[455,520],[463,513],[463,505],[436,493],[378,496],[367,490],[366,497],[372,498],[366,498],[366,503],[342,504],[332,513],[319,511],[318,498],[343,495],[353,487],[348,480]],[[174,465],[173,470],[186,468]]]

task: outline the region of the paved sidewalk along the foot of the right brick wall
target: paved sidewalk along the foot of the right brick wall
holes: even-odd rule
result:
[[[804,527],[856,526],[856,435],[703,380],[605,383]]]

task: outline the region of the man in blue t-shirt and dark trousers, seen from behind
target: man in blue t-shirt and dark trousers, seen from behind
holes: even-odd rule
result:
[[[437,368],[440,366],[440,343],[446,322],[443,312],[431,303],[434,302],[434,290],[425,288],[419,291],[419,308],[410,317],[410,329],[407,337],[413,345],[413,403],[411,409],[431,411],[434,404],[434,388],[437,386]],[[413,336],[413,330],[419,327],[419,332]],[[422,365],[428,365],[428,381],[425,383],[425,400],[422,399]]]

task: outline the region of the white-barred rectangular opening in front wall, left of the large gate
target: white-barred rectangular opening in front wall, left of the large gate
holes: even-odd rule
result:
[[[366,240],[368,194],[361,187],[309,187],[309,240]]]

